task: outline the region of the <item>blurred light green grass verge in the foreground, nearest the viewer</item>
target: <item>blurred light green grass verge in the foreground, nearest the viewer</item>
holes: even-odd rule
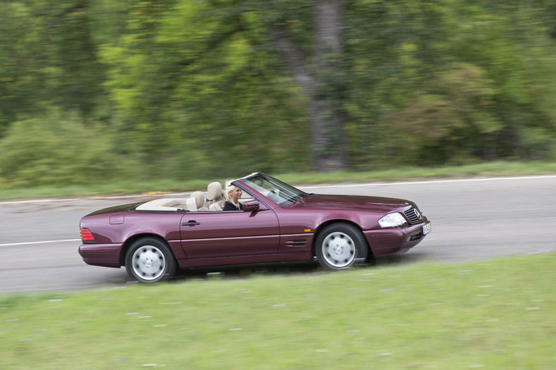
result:
[[[555,369],[556,254],[0,297],[1,369]]]

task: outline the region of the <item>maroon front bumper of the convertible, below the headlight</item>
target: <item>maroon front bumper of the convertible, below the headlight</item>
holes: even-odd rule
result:
[[[418,245],[425,238],[423,226],[427,223],[428,221],[405,228],[366,230],[363,234],[369,242],[373,257],[387,257],[407,252]]]

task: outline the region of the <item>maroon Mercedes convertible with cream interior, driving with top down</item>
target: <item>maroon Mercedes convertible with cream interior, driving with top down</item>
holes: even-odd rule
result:
[[[243,211],[222,211],[222,185],[190,197],[114,206],[81,218],[79,253],[90,265],[126,266],[154,283],[176,268],[316,259],[342,270],[408,251],[430,232],[403,199],[308,194],[264,173],[233,181]]]

